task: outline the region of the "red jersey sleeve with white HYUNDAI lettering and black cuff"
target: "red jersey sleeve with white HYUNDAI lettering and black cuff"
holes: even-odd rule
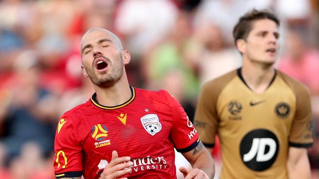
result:
[[[170,138],[177,152],[185,153],[194,149],[199,143],[196,129],[189,120],[181,104],[167,91],[162,90],[171,107],[173,125]]]

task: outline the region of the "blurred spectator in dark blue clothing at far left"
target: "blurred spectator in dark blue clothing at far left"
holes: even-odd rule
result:
[[[14,97],[4,116],[7,136],[0,140],[8,159],[18,157],[29,141],[38,145],[44,155],[48,156],[53,150],[55,97],[40,87],[38,58],[31,50],[20,54],[14,63],[15,75],[8,81],[7,88]]]

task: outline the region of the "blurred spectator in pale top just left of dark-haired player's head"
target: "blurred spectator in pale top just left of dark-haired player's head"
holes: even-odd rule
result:
[[[200,86],[241,65],[238,51],[227,46],[220,27],[212,22],[199,25],[190,44],[185,57],[197,63]]]

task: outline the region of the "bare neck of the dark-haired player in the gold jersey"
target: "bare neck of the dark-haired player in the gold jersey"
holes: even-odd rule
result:
[[[272,64],[244,60],[241,75],[251,90],[263,93],[273,79],[275,70]]]

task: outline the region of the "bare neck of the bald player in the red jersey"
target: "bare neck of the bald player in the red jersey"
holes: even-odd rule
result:
[[[117,106],[127,102],[132,92],[126,74],[113,86],[102,88],[94,85],[96,100],[103,106]]]

